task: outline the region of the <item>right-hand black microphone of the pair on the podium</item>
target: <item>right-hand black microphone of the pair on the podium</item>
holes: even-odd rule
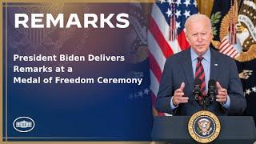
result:
[[[208,98],[206,98],[206,106],[210,106],[214,102],[214,97],[216,96],[216,82],[214,79],[210,79],[208,82]]]

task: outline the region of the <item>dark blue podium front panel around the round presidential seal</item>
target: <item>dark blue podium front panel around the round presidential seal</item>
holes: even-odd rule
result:
[[[256,141],[254,119],[249,116],[221,116],[221,132],[211,143],[252,144]],[[158,116],[154,118],[153,141],[173,143],[198,143],[190,137],[187,124],[190,117]]]

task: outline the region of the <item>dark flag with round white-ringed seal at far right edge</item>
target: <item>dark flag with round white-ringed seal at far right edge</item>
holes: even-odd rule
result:
[[[240,7],[237,38],[242,46],[242,52],[235,59],[246,96],[245,114],[253,116],[256,124],[256,4],[245,0]]]

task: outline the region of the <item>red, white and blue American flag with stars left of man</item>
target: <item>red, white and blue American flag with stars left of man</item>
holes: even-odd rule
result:
[[[166,58],[189,47],[185,37],[184,24],[186,18],[196,13],[198,13],[196,0],[158,0],[153,5],[147,37],[150,50],[150,90],[154,114],[157,112],[154,105]],[[170,41],[171,18],[176,20],[174,27],[177,27],[178,34],[174,41]],[[158,112],[157,114],[166,115]]]

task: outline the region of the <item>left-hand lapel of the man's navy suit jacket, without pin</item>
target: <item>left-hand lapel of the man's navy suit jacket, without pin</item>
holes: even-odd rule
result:
[[[187,82],[189,82],[190,88],[191,90],[193,90],[194,76],[193,76],[190,49],[187,49],[184,52],[185,54],[182,55],[181,65],[186,75]]]

